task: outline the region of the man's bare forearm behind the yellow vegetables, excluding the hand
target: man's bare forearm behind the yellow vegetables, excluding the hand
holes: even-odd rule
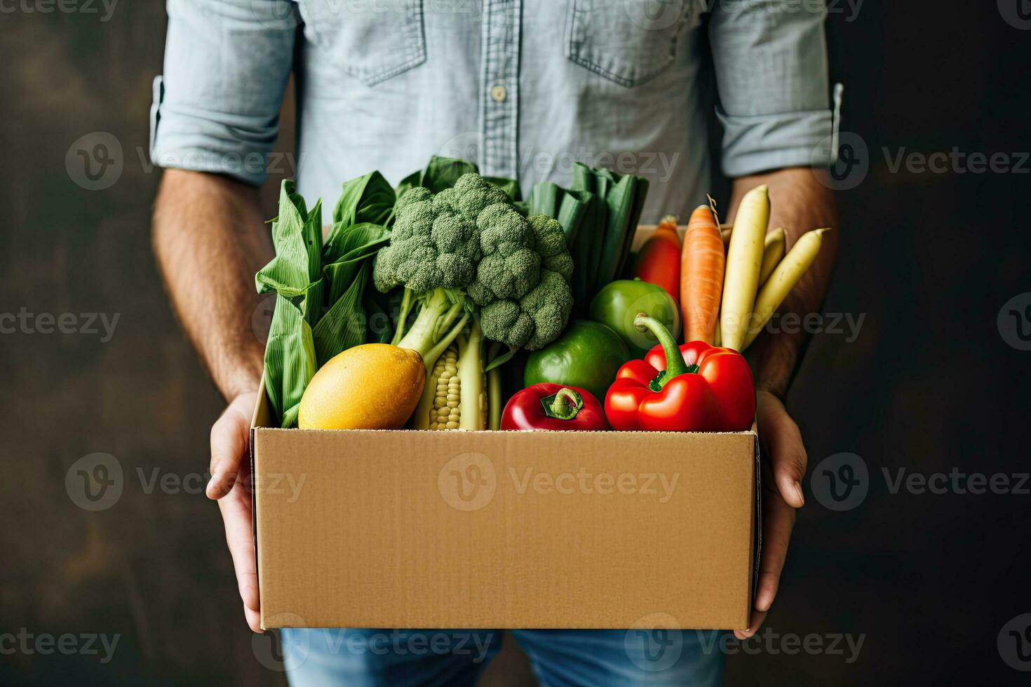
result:
[[[734,180],[729,205],[731,212],[737,210],[737,204],[749,190],[763,183],[769,186],[769,228],[784,228],[789,248],[805,232],[822,227],[835,230],[824,234],[817,261],[780,306],[781,316],[790,312],[804,318],[808,313],[818,312],[834,265],[837,252],[837,211],[833,193],[816,176],[824,172],[807,168],[792,168]],[[733,220],[733,217],[728,219]],[[780,332],[775,337],[760,336],[756,339],[757,388],[784,397],[798,365],[805,338],[806,334],[799,331]]]

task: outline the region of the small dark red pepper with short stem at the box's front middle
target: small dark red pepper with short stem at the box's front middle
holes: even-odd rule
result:
[[[540,383],[517,391],[505,404],[502,430],[608,430],[594,394],[578,386]]]

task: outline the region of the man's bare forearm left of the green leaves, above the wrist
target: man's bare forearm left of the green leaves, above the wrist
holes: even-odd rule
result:
[[[172,306],[226,399],[258,388],[254,275],[272,253],[254,188],[168,170],[155,202],[154,248]]]

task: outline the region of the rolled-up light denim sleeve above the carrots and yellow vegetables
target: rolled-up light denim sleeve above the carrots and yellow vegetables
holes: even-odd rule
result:
[[[830,165],[823,0],[717,0],[708,33],[723,171]]]

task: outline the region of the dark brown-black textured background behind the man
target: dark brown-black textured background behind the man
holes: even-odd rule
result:
[[[825,310],[866,319],[853,343],[814,338],[790,405],[810,466],[855,452],[871,484],[861,506],[835,513],[807,482],[767,626],[865,641],[853,663],[737,653],[728,684],[1023,677],[996,640],[1010,618],[1031,612],[1031,496],[892,494],[880,474],[1020,473],[1031,462],[1031,352],[1007,345],[996,324],[1008,299],[1031,290],[1021,212],[1031,176],[892,173],[882,151],[1031,149],[1031,31],[1004,22],[994,2],[975,4],[870,3],[856,21],[849,11],[830,19],[832,77],[849,87],[843,130],[865,141],[870,166],[839,196],[839,265]],[[107,664],[0,655],[0,683],[281,684],[256,660],[217,508],[199,492],[148,494],[136,473],[205,471],[208,427],[222,408],[149,250],[160,173],[141,151],[163,5],[123,2],[108,22],[20,7],[8,3],[0,15],[0,312],[121,319],[108,343],[86,334],[0,337],[0,633],[121,639]],[[288,111],[285,132],[292,123]],[[65,154],[97,131],[120,141],[124,172],[90,192],[71,181]],[[291,149],[292,134],[284,139],[276,150]],[[71,503],[64,478],[95,451],[118,457],[126,488],[113,508],[88,513]],[[495,665],[495,684],[520,682],[521,669]]]

